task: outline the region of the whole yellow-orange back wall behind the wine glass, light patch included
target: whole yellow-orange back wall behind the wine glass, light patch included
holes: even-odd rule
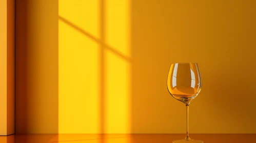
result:
[[[197,62],[203,88],[190,132],[256,133],[255,7],[16,1],[16,131],[184,133],[185,106],[168,93],[167,74],[171,63]]]

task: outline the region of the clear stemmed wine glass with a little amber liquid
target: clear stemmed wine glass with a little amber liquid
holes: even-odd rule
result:
[[[185,103],[187,108],[187,136],[173,142],[202,143],[188,136],[188,109],[189,103],[198,96],[202,88],[201,73],[197,63],[173,63],[169,69],[167,87],[173,98]]]

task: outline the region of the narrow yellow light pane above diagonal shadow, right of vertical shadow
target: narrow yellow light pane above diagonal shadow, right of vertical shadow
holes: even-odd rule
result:
[[[130,0],[106,0],[106,42],[116,51],[130,56]]]

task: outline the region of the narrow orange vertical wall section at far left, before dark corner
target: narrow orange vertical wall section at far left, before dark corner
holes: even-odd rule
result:
[[[0,135],[14,133],[14,1],[0,1]]]

